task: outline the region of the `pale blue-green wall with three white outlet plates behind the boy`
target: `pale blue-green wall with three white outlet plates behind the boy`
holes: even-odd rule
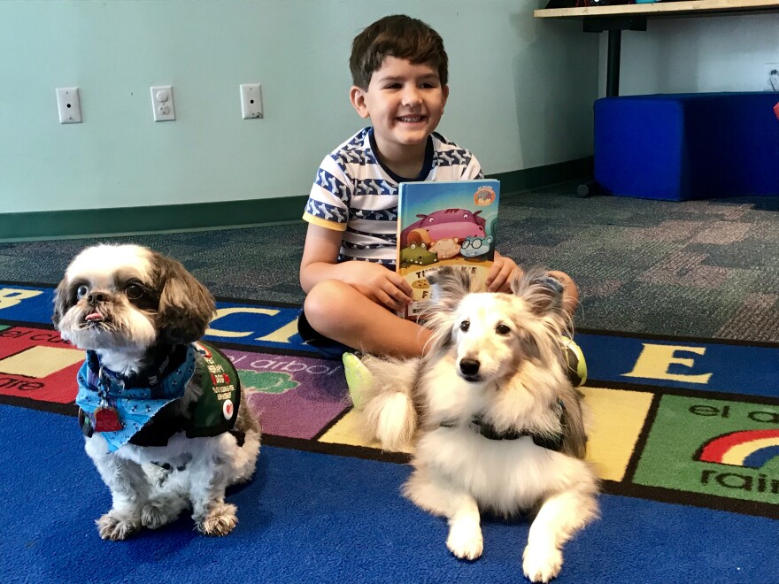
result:
[[[439,129],[487,173],[591,154],[598,38],[528,0],[0,2],[2,211],[305,195],[362,119],[348,103],[351,39],[405,12],[443,36],[451,97]],[[241,119],[261,82],[265,119]],[[177,119],[153,122],[150,86]],[[83,123],[58,123],[78,86]]]

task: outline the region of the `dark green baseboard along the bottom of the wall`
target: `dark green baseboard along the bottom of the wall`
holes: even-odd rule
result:
[[[507,195],[591,176],[592,157],[588,157],[490,174],[489,178],[499,180],[501,193]],[[308,196],[303,195],[153,207],[0,213],[0,240],[65,239],[290,223],[301,220],[307,199]]]

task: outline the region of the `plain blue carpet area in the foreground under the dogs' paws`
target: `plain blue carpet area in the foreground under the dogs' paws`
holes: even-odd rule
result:
[[[446,526],[398,494],[395,465],[263,447],[258,473],[233,490],[240,523],[198,535],[189,517],[127,542],[103,542],[94,519],[110,497],[73,418],[0,405],[0,581],[522,581],[523,521],[486,520],[484,556],[459,561]],[[774,519],[600,498],[603,518],[567,545],[557,582],[771,582]]]

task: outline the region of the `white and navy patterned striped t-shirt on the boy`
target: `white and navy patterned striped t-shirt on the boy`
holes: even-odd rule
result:
[[[317,172],[303,219],[343,231],[338,262],[359,259],[394,269],[398,184],[481,179],[482,166],[468,150],[435,132],[415,179],[397,176],[375,152],[373,128],[366,127],[330,153]]]

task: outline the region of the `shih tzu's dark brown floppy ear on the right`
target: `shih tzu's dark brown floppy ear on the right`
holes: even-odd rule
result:
[[[213,296],[177,260],[153,252],[151,261],[163,284],[157,315],[160,340],[171,344],[197,341],[216,310]]]

